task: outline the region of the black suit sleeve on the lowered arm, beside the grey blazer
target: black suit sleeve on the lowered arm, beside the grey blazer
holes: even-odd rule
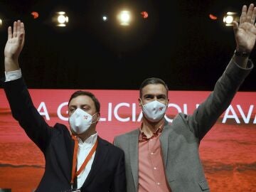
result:
[[[121,150],[121,155],[119,156],[119,161],[117,164],[117,169],[114,174],[114,181],[110,188],[111,192],[127,191],[127,181],[125,176],[125,166],[124,166],[124,151]]]

